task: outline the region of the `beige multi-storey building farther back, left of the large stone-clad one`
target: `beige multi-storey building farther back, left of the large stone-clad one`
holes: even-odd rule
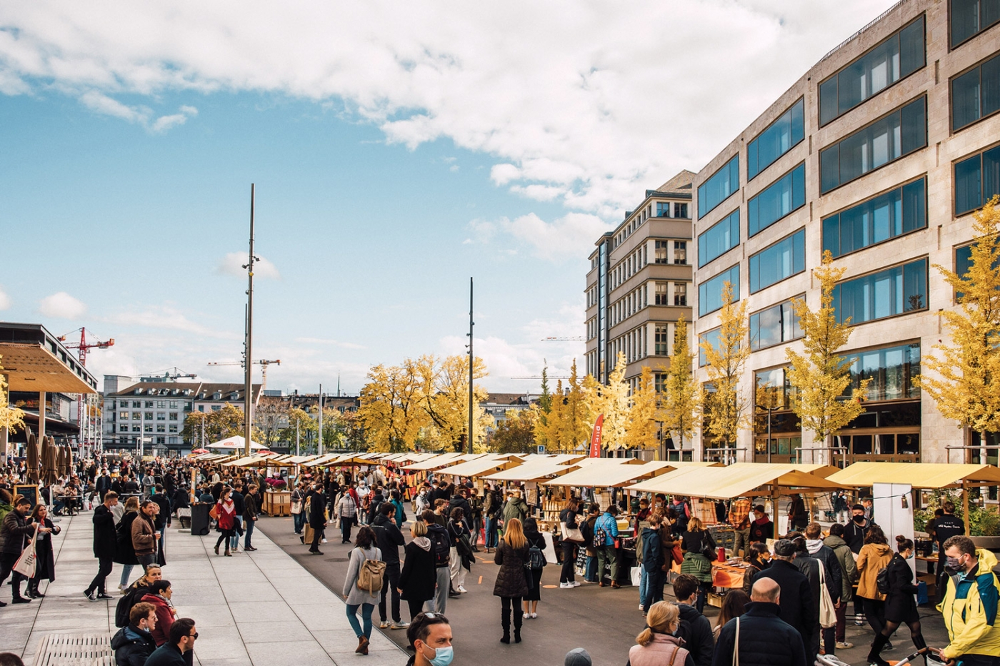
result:
[[[682,171],[603,234],[587,273],[587,374],[602,383],[619,351],[633,389],[643,367],[662,387],[674,329],[691,321],[691,213],[694,173]]]

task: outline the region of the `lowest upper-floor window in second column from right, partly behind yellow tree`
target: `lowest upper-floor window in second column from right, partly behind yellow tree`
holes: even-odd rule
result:
[[[920,387],[913,382],[920,375],[920,343],[898,347],[884,347],[858,352],[851,364],[851,384],[846,395],[851,395],[865,379],[868,384],[866,401],[906,400],[920,397]]]

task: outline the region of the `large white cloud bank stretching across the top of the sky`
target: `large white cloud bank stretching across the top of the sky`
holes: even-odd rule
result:
[[[3,3],[0,91],[63,90],[150,132],[193,110],[154,118],[113,96],[334,103],[390,142],[450,139],[493,156],[498,186],[612,219],[894,1]]]

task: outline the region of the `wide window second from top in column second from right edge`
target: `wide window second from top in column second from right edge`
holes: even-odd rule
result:
[[[821,193],[926,145],[927,98],[921,97],[821,150]]]

